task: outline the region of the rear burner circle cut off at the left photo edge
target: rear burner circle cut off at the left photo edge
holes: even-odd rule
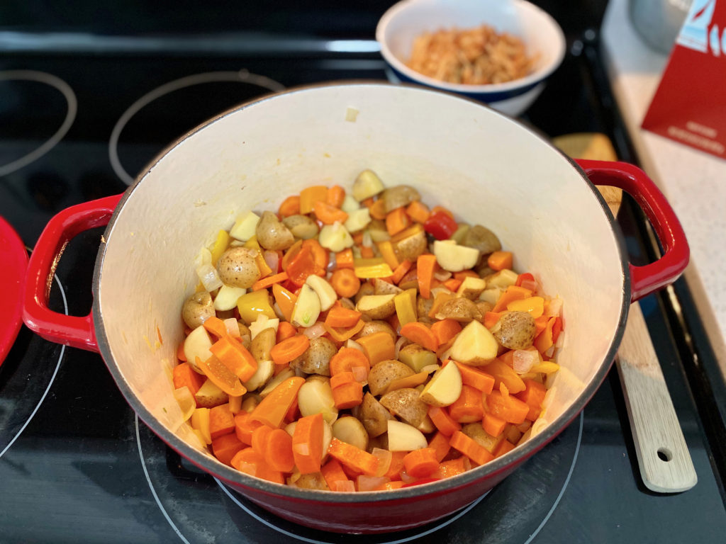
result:
[[[36,126],[30,126],[28,120],[33,120],[37,115],[42,115],[43,112],[38,112],[37,110],[45,109],[49,103],[54,101],[54,98],[52,96],[46,96],[44,92],[38,94],[38,89],[36,88],[26,88],[25,85],[18,84],[17,82],[20,81],[26,83],[29,81],[43,83],[46,86],[54,88],[56,91],[60,91],[65,99],[66,105],[65,118],[62,120],[60,128],[44,144],[33,147],[30,151],[26,151],[25,145],[19,143],[23,139],[35,139],[37,137],[36,134],[27,132],[28,130],[35,131],[38,128]],[[9,117],[0,123],[0,126],[6,126],[5,130],[9,129],[9,133],[4,134],[3,139],[18,142],[17,147],[23,149],[25,154],[15,151],[7,143],[4,144],[5,149],[10,149],[13,154],[22,154],[22,156],[9,162],[4,162],[5,157],[0,154],[0,162],[2,162],[0,164],[0,177],[20,170],[20,168],[29,165],[31,162],[38,160],[49,152],[62,140],[63,136],[70,129],[70,126],[73,125],[73,120],[76,119],[76,111],[78,109],[78,102],[76,100],[76,94],[73,93],[73,89],[70,88],[68,83],[65,83],[65,81],[57,78],[55,75],[38,72],[36,70],[7,70],[0,72],[1,82],[15,82],[13,86],[8,86],[7,84],[0,86],[0,121]],[[4,91],[2,90],[3,87]],[[8,112],[10,114],[9,116]]]

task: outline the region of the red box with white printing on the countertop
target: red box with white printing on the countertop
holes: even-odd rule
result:
[[[726,158],[726,0],[693,0],[642,126]]]

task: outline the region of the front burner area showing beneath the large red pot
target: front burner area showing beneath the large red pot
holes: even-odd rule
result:
[[[583,416],[486,495],[436,522],[382,535],[342,535],[281,519],[187,463],[136,418],[139,460],[166,522],[188,544],[224,538],[234,543],[269,543],[287,538],[314,544],[478,544],[499,535],[528,544],[547,524],[565,493],[579,455]],[[504,538],[506,536],[506,538]]]

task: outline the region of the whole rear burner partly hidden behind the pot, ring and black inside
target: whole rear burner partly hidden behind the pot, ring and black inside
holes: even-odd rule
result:
[[[216,83],[217,85],[212,90],[209,88],[190,89],[203,83]],[[232,86],[222,86],[219,83],[236,85],[232,88]],[[245,85],[246,88],[243,91],[238,88],[239,83]],[[178,91],[183,89],[186,89],[185,93],[179,96]],[[125,184],[131,185],[134,182],[134,176],[131,176],[123,167],[119,158],[119,139],[124,128],[127,129],[127,132],[134,133],[131,141],[134,141],[136,152],[133,158],[128,159],[128,162],[132,163],[131,171],[138,172],[169,142],[175,141],[200,123],[236,104],[246,102],[248,99],[284,89],[285,86],[282,83],[247,70],[199,73],[165,83],[131,104],[113,127],[108,142],[108,156],[113,171]],[[174,101],[170,98],[165,101],[165,97],[171,93],[175,94]],[[152,102],[156,102],[153,108],[141,111]],[[169,108],[175,108],[178,114],[175,115],[174,111],[170,112]],[[163,112],[163,121],[156,118],[159,109]],[[134,123],[130,123],[132,118],[134,118]],[[176,120],[176,123],[170,123],[170,119]],[[147,142],[147,144],[139,146],[139,141]]]

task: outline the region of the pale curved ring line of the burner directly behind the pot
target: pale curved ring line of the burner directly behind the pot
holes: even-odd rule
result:
[[[129,175],[128,172],[121,165],[121,160],[118,158],[118,138],[121,136],[121,131],[129,123],[129,120],[142,109],[142,107],[154,102],[156,99],[169,94],[174,91],[179,91],[181,88],[190,87],[193,85],[199,85],[200,83],[219,83],[222,81],[231,81],[232,83],[250,83],[262,88],[266,88],[269,91],[279,92],[285,90],[285,86],[282,83],[278,83],[273,79],[267,78],[264,75],[257,75],[248,72],[248,70],[233,71],[221,71],[221,72],[205,72],[195,75],[187,75],[184,78],[175,79],[164,83],[162,86],[152,89],[147,94],[144,94],[141,98],[136,100],[129,108],[123,112],[118,121],[111,131],[111,137],[108,141],[108,158],[111,162],[111,168],[116,173],[116,176],[121,178],[121,181],[126,185],[134,183],[134,178]]]

